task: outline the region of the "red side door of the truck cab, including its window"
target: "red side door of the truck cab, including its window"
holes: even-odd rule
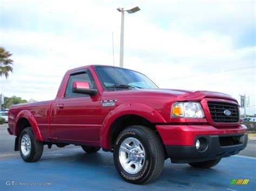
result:
[[[57,139],[99,141],[99,95],[72,92],[73,82],[88,82],[97,89],[89,69],[79,70],[69,77],[65,96],[56,101],[52,123],[52,137]]]

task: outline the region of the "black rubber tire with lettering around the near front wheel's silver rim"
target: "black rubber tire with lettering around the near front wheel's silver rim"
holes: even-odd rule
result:
[[[140,163],[140,168],[142,169],[138,168],[140,171],[136,174],[127,172],[121,164],[122,161],[120,160],[122,159],[119,158],[120,145],[125,142],[127,138],[139,140],[139,148],[143,148],[145,151],[143,152],[145,155]],[[131,143],[131,145],[133,146],[133,143]],[[131,150],[129,150],[129,152]],[[127,159],[129,158],[129,160],[131,160],[128,154],[125,154],[125,156]],[[113,159],[117,172],[125,181],[135,184],[149,183],[156,180],[163,171],[165,161],[163,143],[159,136],[151,129],[145,126],[129,126],[117,136],[116,142],[114,143]],[[134,172],[135,168],[136,166],[134,165]]]

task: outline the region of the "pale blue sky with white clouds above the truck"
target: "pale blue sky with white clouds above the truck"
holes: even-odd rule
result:
[[[119,66],[116,9],[139,6],[125,13],[125,68],[144,73],[160,88],[219,91],[237,100],[246,94],[246,113],[256,114],[255,1],[0,3],[0,45],[14,60],[14,73],[8,80],[0,77],[5,96],[52,100],[66,70],[113,60]]]

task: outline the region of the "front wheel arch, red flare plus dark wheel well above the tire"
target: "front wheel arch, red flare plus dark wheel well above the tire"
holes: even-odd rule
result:
[[[111,149],[114,138],[120,131],[131,125],[144,125],[157,132],[155,123],[166,123],[166,121],[158,111],[148,105],[142,103],[119,105],[107,115],[103,122],[100,130],[100,146]]]

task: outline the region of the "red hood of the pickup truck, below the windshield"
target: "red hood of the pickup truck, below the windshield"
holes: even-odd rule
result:
[[[155,96],[177,97],[177,101],[201,101],[203,98],[220,98],[237,102],[232,96],[216,91],[193,91],[179,89],[134,89],[140,93],[151,93]],[[132,92],[132,91],[131,91]]]

